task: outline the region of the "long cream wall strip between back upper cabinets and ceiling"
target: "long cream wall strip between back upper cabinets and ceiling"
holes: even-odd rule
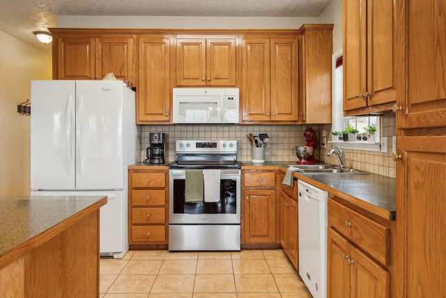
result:
[[[114,17],[59,15],[58,28],[299,29],[318,17]]]

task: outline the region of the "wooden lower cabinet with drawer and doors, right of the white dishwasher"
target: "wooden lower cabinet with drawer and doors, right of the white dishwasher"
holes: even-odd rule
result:
[[[390,297],[390,228],[332,199],[328,225],[328,297]]]

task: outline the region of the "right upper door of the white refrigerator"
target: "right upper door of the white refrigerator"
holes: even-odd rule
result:
[[[76,189],[123,189],[123,88],[76,81]]]

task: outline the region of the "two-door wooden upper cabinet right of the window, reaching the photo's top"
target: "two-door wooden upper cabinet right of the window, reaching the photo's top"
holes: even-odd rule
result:
[[[343,2],[344,112],[390,110],[397,96],[397,1]]]

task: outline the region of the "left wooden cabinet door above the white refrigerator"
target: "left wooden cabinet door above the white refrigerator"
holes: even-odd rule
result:
[[[57,80],[94,80],[95,39],[60,37],[57,50]]]

